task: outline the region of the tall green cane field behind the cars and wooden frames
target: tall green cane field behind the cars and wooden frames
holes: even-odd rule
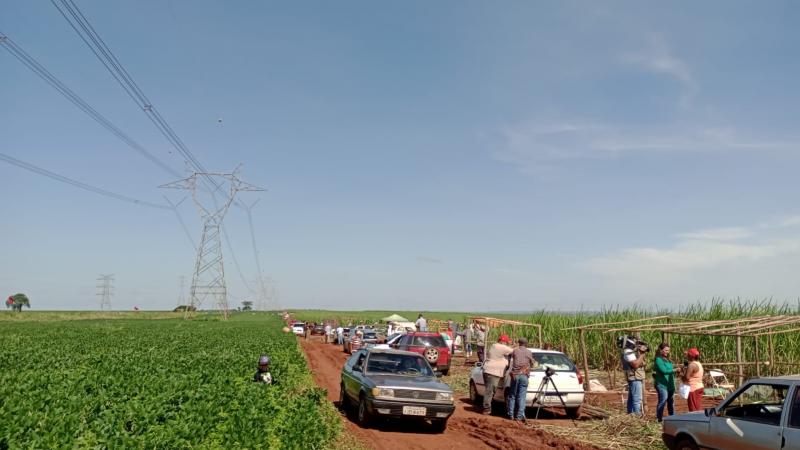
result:
[[[320,311],[320,310],[298,310],[292,311],[294,317],[300,320],[338,319],[344,322],[376,322],[381,317],[392,313],[398,313],[409,320],[415,320],[420,311]],[[721,320],[736,319],[744,317],[755,317],[777,314],[800,314],[800,304],[775,304],[769,300],[765,301],[723,301],[712,300],[708,303],[698,303],[676,311],[643,309],[637,307],[630,308],[607,308],[600,312],[576,312],[559,313],[548,312],[546,310],[529,314],[498,314],[498,313],[464,313],[464,312],[426,312],[422,311],[428,319],[453,319],[456,322],[466,323],[470,316],[488,315],[491,317],[520,320],[528,323],[538,323],[542,325],[544,342],[552,343],[555,348],[562,348],[568,355],[571,355],[576,363],[580,363],[580,343],[578,332],[567,328],[588,325],[602,322],[621,322],[626,320],[641,319],[658,315],[670,314],[673,317],[682,317],[690,320]],[[507,328],[503,331],[510,331]],[[536,337],[536,330],[533,328],[519,327],[517,332],[529,339]],[[496,334],[493,334],[496,335]],[[613,340],[616,334],[602,332],[587,332],[586,344],[589,349],[589,365],[595,369],[617,369],[619,367],[619,356]],[[661,332],[643,333],[641,338],[655,348],[661,342]],[[673,357],[680,361],[682,353],[690,347],[697,347],[702,353],[703,360],[722,362],[736,360],[736,338],[721,336],[677,336],[669,338],[672,345]],[[535,342],[535,340],[534,340]],[[754,339],[742,339],[742,348],[745,358],[754,361]],[[768,346],[767,338],[759,338],[759,348],[762,360],[765,360],[766,349]],[[800,333],[779,334],[774,337],[775,359],[785,363],[797,363],[800,365]],[[734,369],[731,369],[734,370]],[[754,366],[747,366],[746,371],[754,371]],[[776,366],[775,373],[792,373],[797,368],[792,366]],[[747,375],[753,373],[748,372]]]

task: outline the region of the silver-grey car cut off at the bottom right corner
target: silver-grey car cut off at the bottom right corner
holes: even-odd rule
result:
[[[670,450],[800,449],[800,376],[755,378],[714,408],[664,417]]]

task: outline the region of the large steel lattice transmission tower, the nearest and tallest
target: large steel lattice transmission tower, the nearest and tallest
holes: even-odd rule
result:
[[[233,173],[194,172],[190,177],[162,185],[162,188],[188,189],[192,191],[192,200],[203,221],[203,236],[197,247],[197,259],[192,276],[192,287],[189,291],[189,308],[184,317],[188,317],[192,310],[198,308],[206,298],[214,300],[214,306],[222,311],[222,316],[228,318],[228,289],[225,284],[225,267],[222,263],[222,240],[220,229],[225,213],[231,206],[236,193],[239,191],[263,191],[264,189],[245,183]],[[201,178],[204,183],[198,183]],[[214,193],[225,193],[224,185],[229,185],[228,198],[217,202]],[[204,198],[201,198],[204,197]]]

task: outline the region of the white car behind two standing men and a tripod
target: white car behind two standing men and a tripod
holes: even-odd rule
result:
[[[581,415],[581,405],[583,405],[584,390],[583,377],[580,376],[575,363],[561,352],[536,348],[530,349],[530,351],[533,354],[533,358],[539,363],[539,367],[531,370],[528,380],[528,392],[525,395],[525,405],[529,408],[564,408],[564,405],[566,405],[564,412],[567,417],[579,417]],[[545,371],[548,368],[552,369],[552,375],[550,376],[552,383],[542,384],[542,380],[546,375]],[[506,374],[504,382],[500,383],[494,393],[494,401],[505,405],[506,393],[510,384],[511,377]],[[556,393],[556,389],[558,393]],[[483,385],[483,367],[478,363],[478,366],[470,372],[469,398],[473,404],[481,405],[484,395],[486,395],[486,392]]]

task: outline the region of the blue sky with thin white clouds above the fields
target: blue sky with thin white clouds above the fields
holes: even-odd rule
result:
[[[795,2],[76,1],[192,152],[269,189],[281,305],[529,310],[800,297]],[[0,31],[182,170],[49,2]],[[0,152],[151,202],[178,191],[0,51]],[[222,119],[219,122],[218,119]],[[0,293],[173,307],[170,211],[0,162]],[[194,239],[201,225],[180,207]],[[226,219],[256,277],[245,213]],[[250,296],[225,248],[233,302]]]

